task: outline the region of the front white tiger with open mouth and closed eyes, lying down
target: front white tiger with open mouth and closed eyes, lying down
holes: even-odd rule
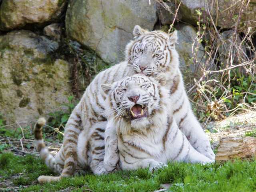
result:
[[[114,163],[118,163],[118,148],[122,170],[148,166],[152,170],[168,160],[212,162],[180,131],[172,115],[169,92],[156,80],[137,74],[114,84],[102,84],[102,88],[108,92],[109,109],[105,158],[117,157]]]

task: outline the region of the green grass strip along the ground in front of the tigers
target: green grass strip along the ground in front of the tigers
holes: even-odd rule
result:
[[[20,174],[19,178],[13,178]],[[211,165],[170,163],[153,174],[147,169],[120,171],[108,175],[87,174],[64,178],[60,182],[38,184],[40,175],[52,175],[44,163],[34,156],[19,157],[0,154],[0,175],[16,186],[29,185],[21,191],[52,192],[71,187],[74,192],[153,192],[160,184],[170,183],[175,192],[249,192],[256,191],[256,161],[226,162]]]

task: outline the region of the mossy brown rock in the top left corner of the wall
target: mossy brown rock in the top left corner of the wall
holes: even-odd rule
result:
[[[57,20],[65,5],[66,0],[3,0],[0,7],[0,30]]]

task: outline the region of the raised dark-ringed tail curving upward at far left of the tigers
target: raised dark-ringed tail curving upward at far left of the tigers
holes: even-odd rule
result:
[[[44,118],[39,118],[34,126],[36,150],[39,152],[40,157],[42,158],[42,160],[44,160],[45,164],[54,172],[57,172],[55,158],[50,154],[50,152],[44,144],[42,129],[45,123],[46,120]]]

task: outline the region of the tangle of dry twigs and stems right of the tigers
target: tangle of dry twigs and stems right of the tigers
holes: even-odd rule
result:
[[[157,0],[171,12],[166,4],[168,1]],[[242,13],[249,3],[250,0],[236,2],[239,12],[230,15],[235,24],[230,29],[216,26],[217,18],[212,17],[209,7],[205,10],[209,16],[197,10],[195,27],[198,37],[194,40],[194,57],[191,58],[197,69],[186,86],[201,122],[222,120],[256,108],[256,32],[250,26],[244,28],[240,25]],[[175,19],[169,32],[174,30],[176,23],[182,22],[176,18],[179,8],[180,4],[176,3],[176,12],[171,12]],[[204,46],[204,63],[196,57],[196,42]]]

